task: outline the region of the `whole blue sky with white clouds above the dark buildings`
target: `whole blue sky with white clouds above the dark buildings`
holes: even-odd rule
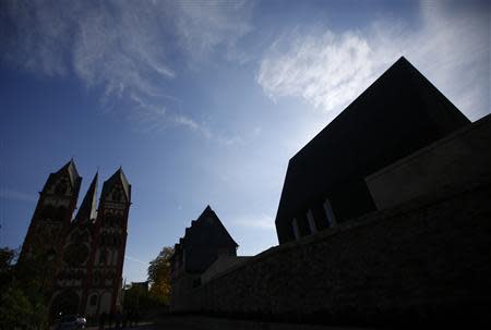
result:
[[[277,245],[288,160],[400,56],[471,121],[490,113],[488,1],[0,1],[0,246],[49,173],[82,201],[132,184],[123,277],[206,205],[239,255]],[[396,111],[396,109],[394,110]]]

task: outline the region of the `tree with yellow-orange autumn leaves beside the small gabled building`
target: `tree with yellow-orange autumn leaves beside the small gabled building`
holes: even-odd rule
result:
[[[148,266],[151,297],[164,305],[168,305],[170,301],[170,257],[172,255],[173,248],[166,246]]]

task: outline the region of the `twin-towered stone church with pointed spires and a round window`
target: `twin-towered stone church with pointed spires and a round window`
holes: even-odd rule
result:
[[[87,317],[120,308],[131,185],[122,169],[104,182],[97,207],[96,173],[73,217],[82,178],[70,160],[39,193],[19,262],[43,265],[51,317]]]

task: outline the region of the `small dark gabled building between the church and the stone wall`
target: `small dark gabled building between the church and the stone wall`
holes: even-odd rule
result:
[[[170,259],[171,308],[178,309],[181,297],[201,284],[201,276],[219,257],[236,257],[239,245],[228,233],[218,216],[207,206],[183,237],[175,245]]]

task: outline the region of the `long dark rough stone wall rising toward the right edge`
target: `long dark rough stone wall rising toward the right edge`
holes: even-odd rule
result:
[[[467,186],[271,248],[192,289],[175,311],[345,325],[489,320],[490,200],[490,183]]]

